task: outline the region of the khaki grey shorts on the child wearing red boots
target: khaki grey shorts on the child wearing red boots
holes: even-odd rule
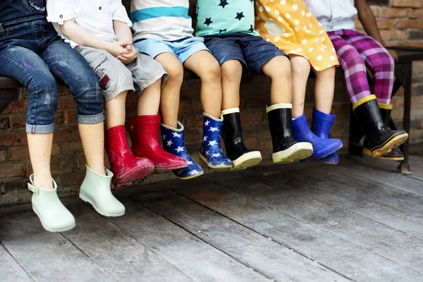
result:
[[[114,99],[125,90],[133,92],[135,88],[138,94],[142,94],[146,87],[160,78],[163,78],[161,81],[163,87],[168,78],[161,64],[147,54],[138,53],[137,59],[125,66],[108,51],[82,46],[75,49],[97,73],[106,101]]]

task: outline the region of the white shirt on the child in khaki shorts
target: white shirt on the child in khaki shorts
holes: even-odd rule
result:
[[[95,37],[108,42],[117,40],[114,20],[132,27],[121,0],[47,0],[47,20],[53,23],[62,39],[75,48],[78,43],[63,36],[59,27],[72,19]]]

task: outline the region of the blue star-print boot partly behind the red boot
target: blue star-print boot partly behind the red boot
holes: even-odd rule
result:
[[[161,137],[163,147],[166,152],[174,154],[188,161],[186,168],[179,168],[171,171],[177,178],[191,179],[202,176],[204,171],[201,166],[193,161],[185,149],[185,137],[183,135],[183,125],[178,121],[178,129],[161,124]]]

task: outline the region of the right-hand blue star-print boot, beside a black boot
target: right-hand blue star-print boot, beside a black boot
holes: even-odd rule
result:
[[[223,116],[219,119],[203,113],[203,140],[200,148],[200,159],[210,168],[233,168],[231,159],[221,149],[221,133]]]

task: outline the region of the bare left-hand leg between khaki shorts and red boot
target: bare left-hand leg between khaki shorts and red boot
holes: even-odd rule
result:
[[[114,99],[106,102],[104,108],[106,111],[106,128],[114,128],[125,124],[125,102],[128,91],[123,91]]]

